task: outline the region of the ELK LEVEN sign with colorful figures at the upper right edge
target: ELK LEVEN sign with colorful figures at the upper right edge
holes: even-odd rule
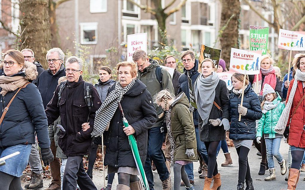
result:
[[[292,51],[305,51],[305,31],[290,31],[280,29],[278,33],[278,48]]]

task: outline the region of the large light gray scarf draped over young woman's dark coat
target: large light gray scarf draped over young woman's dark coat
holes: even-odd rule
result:
[[[202,126],[208,123],[208,119],[215,99],[215,89],[219,80],[220,79],[218,74],[213,72],[207,78],[204,78],[203,74],[200,74],[195,81],[194,94],[196,98],[198,113],[203,120]]]

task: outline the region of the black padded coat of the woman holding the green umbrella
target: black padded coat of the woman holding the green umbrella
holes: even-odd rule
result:
[[[115,88],[109,88],[111,92]],[[156,122],[157,114],[150,93],[146,86],[139,79],[124,94],[121,105],[124,115],[129,125],[135,129],[135,139],[137,141],[141,161],[144,164],[147,154],[147,130]],[[104,165],[115,168],[128,166],[136,167],[133,154],[128,142],[128,136],[123,131],[123,117],[119,109],[110,121],[108,135],[106,137],[106,155]]]

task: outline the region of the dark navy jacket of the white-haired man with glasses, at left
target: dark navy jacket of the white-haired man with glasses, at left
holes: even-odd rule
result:
[[[58,85],[58,79],[62,76],[66,76],[65,67],[63,64],[55,74],[53,74],[52,71],[48,69],[43,71],[38,77],[37,87],[41,94],[43,106],[45,109],[47,108],[47,104],[53,98],[54,91]]]

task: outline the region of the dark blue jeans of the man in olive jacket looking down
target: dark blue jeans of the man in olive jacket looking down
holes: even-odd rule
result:
[[[156,166],[161,181],[166,180],[167,178],[169,178],[170,175],[170,173],[166,168],[165,159],[162,153],[164,133],[161,133],[160,128],[161,127],[159,126],[159,127],[153,127],[150,130],[148,130],[148,146],[147,146],[147,156],[144,165],[144,171],[146,174],[146,178],[150,190],[154,189],[151,160]]]

